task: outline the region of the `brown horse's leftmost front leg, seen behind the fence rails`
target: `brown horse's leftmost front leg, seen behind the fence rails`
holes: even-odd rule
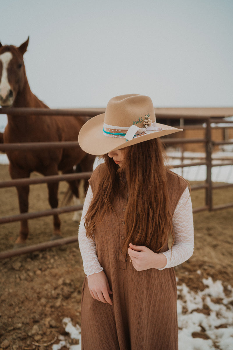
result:
[[[30,176],[30,172],[27,170],[22,170],[10,163],[9,165],[9,173],[12,179],[22,179]],[[29,186],[17,186],[17,195],[19,201],[20,213],[28,212],[28,195],[29,195]],[[26,239],[28,237],[28,221],[26,219],[21,220],[20,222],[20,234],[19,237],[15,241],[14,248],[19,248],[25,246]]]

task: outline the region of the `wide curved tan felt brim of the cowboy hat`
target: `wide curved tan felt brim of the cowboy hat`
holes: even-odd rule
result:
[[[103,155],[117,149],[138,144],[147,140],[155,139],[165,135],[183,131],[172,126],[156,123],[162,130],[154,131],[145,135],[140,135],[127,141],[125,138],[109,137],[103,134],[103,122],[105,113],[99,114],[88,120],[79,132],[79,146],[86,153],[93,155]]]

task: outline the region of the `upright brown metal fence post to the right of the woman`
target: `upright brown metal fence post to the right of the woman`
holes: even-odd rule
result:
[[[205,204],[208,210],[212,210],[212,179],[211,179],[211,168],[212,168],[212,140],[211,140],[211,121],[210,118],[206,120],[206,191],[205,191]]]

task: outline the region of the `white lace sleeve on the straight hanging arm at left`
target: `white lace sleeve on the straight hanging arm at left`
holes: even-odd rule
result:
[[[83,204],[82,217],[79,224],[79,249],[82,255],[83,269],[87,276],[92,275],[95,272],[97,273],[103,271],[103,267],[100,266],[96,255],[95,241],[86,236],[86,229],[84,226],[85,219],[83,218],[87,213],[92,198],[92,189],[89,186],[85,202]]]

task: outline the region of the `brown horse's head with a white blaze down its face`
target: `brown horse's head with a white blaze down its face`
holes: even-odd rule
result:
[[[22,90],[26,72],[23,55],[27,51],[28,39],[19,47],[0,43],[0,105],[12,106],[15,97]]]

